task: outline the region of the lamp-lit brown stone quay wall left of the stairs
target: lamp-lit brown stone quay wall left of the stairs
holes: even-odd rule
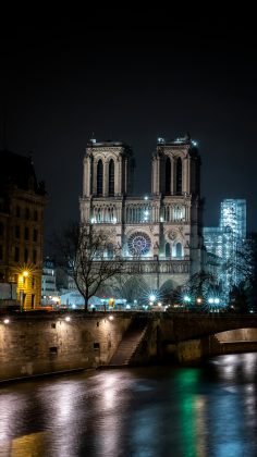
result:
[[[0,319],[0,380],[106,365],[131,316],[24,312]]]

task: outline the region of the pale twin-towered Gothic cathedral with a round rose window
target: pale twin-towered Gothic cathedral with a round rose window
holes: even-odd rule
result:
[[[200,270],[200,158],[189,135],[158,138],[151,194],[133,195],[134,158],[123,141],[91,139],[84,158],[81,220],[108,231],[148,289],[176,288]],[[108,254],[107,254],[108,255]],[[135,268],[135,257],[136,261]]]

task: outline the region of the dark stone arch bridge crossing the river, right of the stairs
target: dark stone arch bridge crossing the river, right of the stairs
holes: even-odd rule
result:
[[[203,356],[257,351],[257,316],[184,313],[169,319],[171,339],[162,343],[163,350],[173,353],[181,362]],[[164,323],[160,328],[164,330]]]

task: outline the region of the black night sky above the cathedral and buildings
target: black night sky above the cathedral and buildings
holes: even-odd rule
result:
[[[212,7],[199,14],[186,7],[99,7],[54,17],[2,17],[7,146],[33,151],[50,196],[48,236],[78,218],[93,132],[98,140],[133,147],[137,193],[150,190],[157,137],[189,132],[203,161],[204,224],[218,225],[223,198],[246,198],[247,228],[257,230],[254,12]]]

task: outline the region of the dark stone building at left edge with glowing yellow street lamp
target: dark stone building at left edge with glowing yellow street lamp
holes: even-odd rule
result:
[[[21,306],[32,309],[41,301],[47,196],[32,158],[3,150],[0,163],[0,281],[16,284]]]

